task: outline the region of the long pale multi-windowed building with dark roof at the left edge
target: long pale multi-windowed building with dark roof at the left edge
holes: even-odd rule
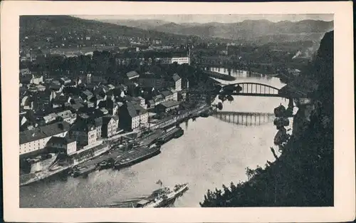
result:
[[[21,132],[20,155],[43,150],[51,137],[66,137],[69,128],[69,123],[60,122]]]

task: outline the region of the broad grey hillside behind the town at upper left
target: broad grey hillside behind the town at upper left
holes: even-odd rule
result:
[[[83,44],[85,46],[110,45],[148,38],[161,40],[162,43],[182,43],[188,37],[72,16],[20,16],[20,46],[25,47],[64,48]]]

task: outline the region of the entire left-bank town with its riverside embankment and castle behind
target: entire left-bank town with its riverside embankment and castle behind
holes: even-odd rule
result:
[[[98,61],[104,53],[109,52],[96,51],[85,57]],[[69,67],[70,75],[51,78],[49,72],[21,68],[21,183],[43,179],[98,157],[112,149],[110,141],[122,140],[125,135],[152,135],[154,130],[176,125],[192,110],[205,108],[204,100],[187,100],[190,82],[185,70],[195,69],[190,66],[189,46],[180,51],[150,51],[152,58],[109,54],[127,71],[122,76],[105,78],[100,71],[76,72]],[[33,61],[32,56],[27,59]],[[151,142],[164,133],[156,134]]]

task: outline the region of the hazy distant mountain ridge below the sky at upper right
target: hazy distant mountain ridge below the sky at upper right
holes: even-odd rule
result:
[[[114,22],[114,21],[111,21]],[[256,40],[266,39],[266,36],[276,36],[276,40],[285,38],[286,41],[307,40],[320,41],[324,33],[333,30],[333,21],[302,20],[302,21],[278,21],[272,22],[266,19],[245,20],[237,23],[210,22],[206,24],[184,23],[176,24],[168,21],[153,22],[140,20],[134,22],[117,20],[115,24],[126,24],[148,30],[164,33],[174,33],[186,36],[229,38],[233,40]],[[313,33],[313,35],[311,35]],[[284,37],[283,37],[284,36]],[[271,39],[273,41],[273,39]]]

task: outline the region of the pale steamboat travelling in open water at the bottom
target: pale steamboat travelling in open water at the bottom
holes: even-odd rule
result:
[[[177,197],[182,196],[188,190],[188,183],[175,185],[174,187],[162,187],[152,192],[145,199],[137,202],[135,207],[166,207],[172,204]]]

